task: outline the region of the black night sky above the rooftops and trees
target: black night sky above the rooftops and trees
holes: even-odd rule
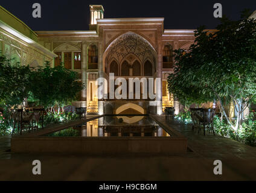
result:
[[[42,6],[42,18],[32,17],[36,2]],[[219,24],[213,17],[216,2],[231,19],[239,19],[243,8],[256,10],[256,0],[1,0],[0,4],[32,30],[88,30],[90,4],[103,5],[104,18],[164,17],[165,29],[196,29],[199,25],[214,29]]]

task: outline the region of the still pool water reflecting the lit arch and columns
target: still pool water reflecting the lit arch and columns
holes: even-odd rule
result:
[[[170,137],[149,116],[103,116],[44,136],[53,137]]]

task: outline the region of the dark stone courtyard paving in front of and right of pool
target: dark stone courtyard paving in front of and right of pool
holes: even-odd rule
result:
[[[195,133],[190,125],[154,116],[188,139],[184,155],[125,154],[86,156],[11,153],[10,137],[0,139],[0,180],[256,180],[256,148],[222,136]],[[33,160],[42,174],[32,174]],[[214,160],[222,161],[222,175],[214,175]]]

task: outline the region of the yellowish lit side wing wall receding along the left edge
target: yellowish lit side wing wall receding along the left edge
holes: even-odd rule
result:
[[[38,43],[38,35],[0,6],[0,54],[21,65],[43,66],[57,55]]]

